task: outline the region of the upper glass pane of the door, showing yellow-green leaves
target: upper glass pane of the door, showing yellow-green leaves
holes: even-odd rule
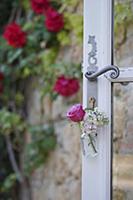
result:
[[[133,67],[133,1],[115,0],[114,64]]]

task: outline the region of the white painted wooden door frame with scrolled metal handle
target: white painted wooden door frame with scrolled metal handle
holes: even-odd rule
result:
[[[85,77],[94,65],[101,70],[113,64],[112,27],[113,0],[84,0],[83,106],[88,107],[89,97],[95,96],[97,106],[106,113],[110,123],[98,133],[98,156],[82,156],[82,200],[112,200],[111,85],[112,82],[133,81],[132,68],[120,70],[117,79],[111,79],[109,73],[101,75],[96,84]]]

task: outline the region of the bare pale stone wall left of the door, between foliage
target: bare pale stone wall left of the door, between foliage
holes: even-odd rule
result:
[[[58,59],[62,58],[81,63],[82,47],[72,44],[70,49],[61,49]],[[47,163],[31,177],[32,200],[80,200],[80,130],[77,125],[68,122],[66,112],[72,104],[82,101],[81,91],[70,98],[59,96],[54,102],[48,96],[41,102],[39,91],[32,85],[28,91],[29,122],[46,124],[47,120],[52,120],[57,136],[55,151],[51,153]]]

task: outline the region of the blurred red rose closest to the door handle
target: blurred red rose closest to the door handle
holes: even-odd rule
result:
[[[60,76],[54,86],[54,91],[64,97],[71,96],[78,92],[78,90],[78,80],[76,78],[66,78],[65,76]]]

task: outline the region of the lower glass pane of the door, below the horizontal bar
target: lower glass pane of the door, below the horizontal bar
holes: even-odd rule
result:
[[[133,83],[113,85],[113,200],[133,200]]]

